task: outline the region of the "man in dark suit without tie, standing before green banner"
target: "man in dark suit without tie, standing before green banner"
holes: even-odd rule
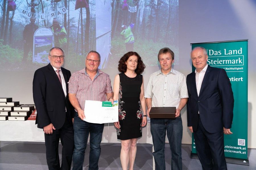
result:
[[[224,69],[207,65],[205,48],[195,47],[191,59],[196,70],[187,75],[187,126],[203,169],[227,169],[223,133],[232,134],[231,83]]]

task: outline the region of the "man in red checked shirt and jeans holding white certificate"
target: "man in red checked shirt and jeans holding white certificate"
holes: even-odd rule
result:
[[[104,124],[84,121],[85,100],[112,101],[113,91],[109,75],[98,69],[100,54],[90,51],[85,59],[85,68],[73,73],[69,79],[69,100],[75,108],[73,170],[82,170],[84,152],[90,133],[89,169],[98,169],[100,158],[100,142]]]

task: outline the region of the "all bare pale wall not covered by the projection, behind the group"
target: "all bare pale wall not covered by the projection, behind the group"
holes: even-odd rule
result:
[[[256,3],[253,0],[205,0],[179,2],[179,65],[173,68],[184,75],[191,73],[190,43],[249,39],[248,41],[248,148],[256,148]],[[138,51],[139,53],[139,51]],[[120,56],[121,57],[121,56]],[[152,56],[157,57],[157,56]],[[26,67],[26,66],[17,66]],[[67,68],[69,69],[69,68]],[[82,69],[82,68],[81,68]],[[145,88],[148,77],[158,66],[147,67],[143,73]],[[29,71],[0,73],[0,96],[13,97],[21,104],[32,104],[32,80],[36,68]],[[75,70],[71,70],[74,72]],[[117,69],[104,69],[113,80]],[[191,144],[187,128],[186,108],[181,111],[183,120],[182,143]]]

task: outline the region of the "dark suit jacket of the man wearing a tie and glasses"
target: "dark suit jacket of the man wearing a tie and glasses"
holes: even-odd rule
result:
[[[72,118],[75,111],[68,97],[68,81],[71,73],[62,67],[61,71],[66,83],[66,97],[59,78],[50,64],[37,69],[34,74],[33,98],[37,110],[36,124],[38,124],[38,128],[44,128],[52,123],[56,129],[60,129],[66,118],[65,108],[67,108],[69,122],[73,124]]]

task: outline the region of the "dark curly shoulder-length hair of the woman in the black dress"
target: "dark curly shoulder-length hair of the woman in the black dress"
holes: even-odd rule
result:
[[[137,68],[135,69],[135,73],[136,74],[141,74],[143,73],[144,69],[146,68],[145,64],[143,63],[141,56],[139,56],[139,54],[137,52],[127,52],[125,55],[123,55],[123,57],[119,60],[119,64],[118,64],[118,71],[121,73],[125,73],[127,70],[127,65],[125,64],[125,62],[128,60],[129,57],[131,56],[137,56],[138,58],[138,64],[137,64]]]

